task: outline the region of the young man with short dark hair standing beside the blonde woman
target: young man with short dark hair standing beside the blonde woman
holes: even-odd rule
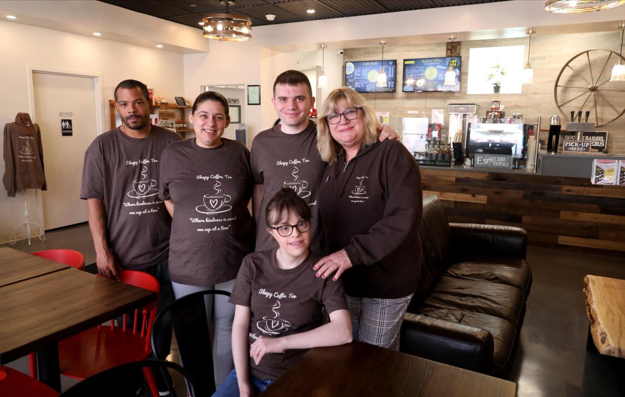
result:
[[[256,220],[256,252],[276,248],[277,243],[266,231],[264,219],[267,201],[284,187],[294,190],[311,209],[311,251],[324,251],[318,189],[326,162],[317,150],[317,130],[308,119],[314,105],[308,77],[299,71],[286,71],[276,77],[271,99],[281,124],[262,131],[252,142],[251,165],[254,177],[252,212]],[[396,139],[388,125],[381,128],[380,140]]]

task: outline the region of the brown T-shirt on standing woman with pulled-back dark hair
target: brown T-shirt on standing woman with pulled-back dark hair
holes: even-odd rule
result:
[[[204,149],[195,139],[169,145],[161,159],[159,197],[173,200],[169,275],[176,283],[233,280],[254,250],[249,150],[236,140]]]

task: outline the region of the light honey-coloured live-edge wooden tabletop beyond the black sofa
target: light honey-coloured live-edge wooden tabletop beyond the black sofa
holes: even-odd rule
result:
[[[584,277],[586,313],[599,353],[625,358],[625,280]]]

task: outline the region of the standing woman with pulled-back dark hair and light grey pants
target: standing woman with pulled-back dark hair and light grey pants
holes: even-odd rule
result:
[[[243,258],[254,250],[247,209],[252,192],[249,151],[222,137],[229,124],[226,98],[217,92],[202,93],[189,121],[195,138],[169,144],[161,156],[159,197],[173,218],[169,275],[176,298],[211,289],[231,292]],[[219,385],[234,365],[230,339],[234,305],[222,295],[206,299],[208,318],[214,314]]]

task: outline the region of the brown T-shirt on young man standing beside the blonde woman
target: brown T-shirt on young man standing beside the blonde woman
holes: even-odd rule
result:
[[[317,129],[313,122],[297,134],[284,134],[280,125],[264,130],[252,142],[252,174],[254,184],[263,185],[260,213],[256,217],[256,251],[276,248],[276,241],[267,233],[265,208],[274,194],[283,187],[295,190],[308,204],[312,215],[312,252],[321,253],[323,237],[317,190],[326,163],[317,150]]]

